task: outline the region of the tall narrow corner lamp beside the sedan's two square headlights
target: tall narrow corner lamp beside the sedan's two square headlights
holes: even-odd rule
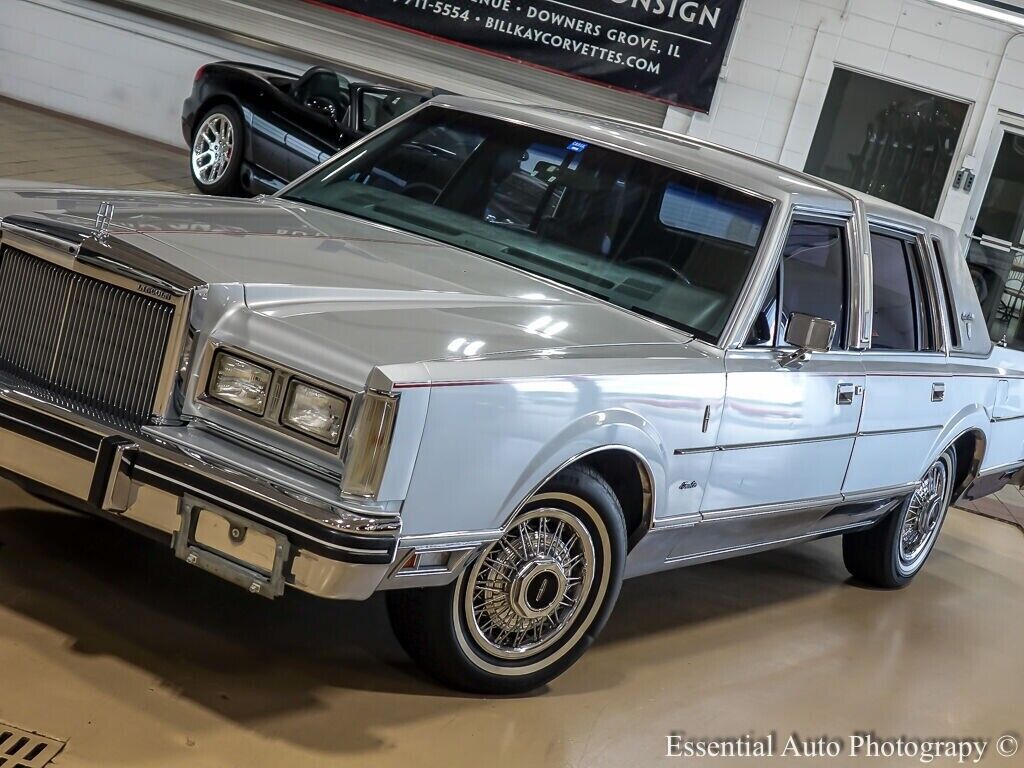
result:
[[[345,480],[341,486],[344,493],[368,498],[377,496],[391,450],[397,410],[397,397],[372,391],[362,395],[362,404],[345,451]]]

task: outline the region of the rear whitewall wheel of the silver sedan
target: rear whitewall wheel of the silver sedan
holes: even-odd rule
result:
[[[843,561],[854,578],[884,589],[910,583],[939,538],[952,501],[955,467],[950,446],[928,468],[918,489],[881,523],[843,537]]]

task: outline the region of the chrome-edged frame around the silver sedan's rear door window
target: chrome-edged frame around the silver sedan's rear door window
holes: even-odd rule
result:
[[[928,355],[946,355],[948,354],[948,337],[945,332],[945,325],[942,322],[942,316],[945,310],[940,306],[938,301],[938,296],[936,295],[936,286],[938,276],[934,269],[934,262],[932,261],[932,249],[928,242],[928,232],[924,229],[918,229],[908,225],[901,224],[899,222],[878,219],[874,217],[868,217],[867,221],[868,227],[865,232],[867,247],[870,250],[870,263],[871,263],[871,273],[872,280],[870,282],[871,291],[871,339],[868,342],[867,347],[863,350],[864,352],[883,353],[883,354],[928,354]],[[910,290],[913,293],[912,299],[914,303],[914,342],[916,349],[879,349],[874,347],[874,281],[873,281],[873,269],[874,269],[874,249],[871,247],[871,238],[879,236],[882,238],[889,238],[891,240],[900,241],[903,244],[903,248],[906,249],[910,246],[913,250],[911,253],[912,266],[916,268],[911,269],[910,272]],[[906,251],[904,250],[904,253]],[[922,303],[924,300],[924,304]],[[925,308],[925,319],[930,321],[931,332],[932,332],[932,349],[922,349],[922,308]]]

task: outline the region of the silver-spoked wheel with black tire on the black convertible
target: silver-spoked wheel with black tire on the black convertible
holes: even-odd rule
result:
[[[246,142],[242,116],[230,104],[217,104],[196,125],[188,155],[188,170],[196,188],[204,195],[239,195]],[[211,132],[219,134],[221,141],[211,144]],[[204,170],[203,163],[208,161],[215,163],[214,173]]]

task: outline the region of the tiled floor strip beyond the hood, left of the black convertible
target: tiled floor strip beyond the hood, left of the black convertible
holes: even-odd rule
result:
[[[5,98],[0,98],[0,179],[196,191],[184,150]]]

